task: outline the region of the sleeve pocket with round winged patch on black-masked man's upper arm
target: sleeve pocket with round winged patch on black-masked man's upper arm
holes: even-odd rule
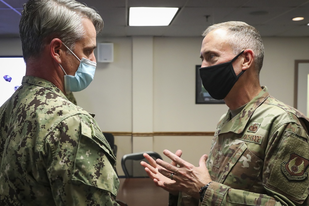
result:
[[[282,138],[266,186],[302,204],[309,194],[309,147],[293,132],[285,131]]]

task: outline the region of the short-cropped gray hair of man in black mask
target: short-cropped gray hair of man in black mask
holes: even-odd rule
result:
[[[244,22],[229,21],[211,25],[204,32],[206,36],[209,32],[216,29],[225,29],[228,34],[227,44],[231,46],[233,53],[239,54],[244,49],[252,49],[255,53],[255,68],[256,74],[259,76],[260,70],[263,66],[264,46],[260,33],[256,28]]]

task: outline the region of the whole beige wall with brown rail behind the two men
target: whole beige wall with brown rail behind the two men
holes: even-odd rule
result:
[[[148,38],[147,44],[152,42],[153,51],[146,57],[152,63],[142,56],[133,57],[133,47],[137,46],[134,42],[140,44],[142,41],[139,37],[134,38],[133,41],[132,37],[98,37],[98,43],[114,43],[114,62],[97,64],[94,81],[87,89],[74,93],[78,105],[96,114],[95,119],[103,131],[133,132],[134,122],[142,122],[142,119],[133,121],[134,115],[139,116],[133,112],[133,94],[143,98],[141,94],[145,92],[139,88],[143,85],[141,82],[133,87],[133,71],[142,71],[144,67],[148,70],[145,79],[153,81],[152,86],[147,85],[148,90],[152,89],[149,93],[153,94],[153,105],[150,107],[147,102],[149,96],[144,106],[143,101],[135,100],[138,101],[135,103],[138,103],[137,108],[146,108],[145,112],[153,115],[153,125],[147,120],[146,132],[151,132],[151,128],[152,132],[214,132],[227,107],[195,104],[195,65],[201,64],[202,38],[154,37],[152,41]],[[263,41],[265,59],[260,74],[261,85],[267,86],[272,96],[293,106],[294,60],[309,59],[309,38],[265,37]],[[1,39],[0,45],[0,56],[22,55],[19,39]],[[133,60],[134,65],[138,65],[135,68]],[[141,76],[138,78],[142,79]],[[145,132],[138,125],[136,128],[134,132]],[[182,149],[183,158],[197,166],[199,158],[209,152],[211,140],[209,136],[150,136],[134,137],[134,140],[130,136],[116,136],[117,169],[123,174],[120,164],[123,154],[151,148],[161,155],[163,149],[172,152]]]

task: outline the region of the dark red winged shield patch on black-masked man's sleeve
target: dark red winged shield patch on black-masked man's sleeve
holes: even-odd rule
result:
[[[303,180],[308,176],[305,172],[308,165],[309,160],[292,153],[288,162],[281,163],[281,170],[290,180]]]

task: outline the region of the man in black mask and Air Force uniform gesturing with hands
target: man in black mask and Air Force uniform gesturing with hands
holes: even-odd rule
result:
[[[217,125],[210,156],[195,167],[180,150],[165,150],[172,164],[146,154],[150,165],[141,164],[170,192],[171,206],[309,205],[309,121],[260,86],[259,33],[246,23],[226,22],[208,27],[204,36],[203,85],[230,108]]]

